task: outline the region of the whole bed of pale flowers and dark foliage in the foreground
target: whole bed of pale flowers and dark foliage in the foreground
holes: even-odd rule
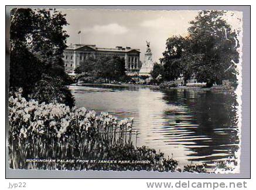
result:
[[[176,171],[178,162],[148,147],[132,145],[132,119],[119,121],[107,113],[64,104],[39,104],[9,98],[9,164],[11,168],[49,170]],[[27,159],[96,160],[29,162]],[[134,163],[101,163],[130,160]],[[136,162],[137,160],[137,162]],[[147,163],[139,161],[146,160]]]

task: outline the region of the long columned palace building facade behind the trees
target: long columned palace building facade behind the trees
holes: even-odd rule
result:
[[[66,72],[74,72],[80,62],[89,57],[118,56],[125,59],[127,71],[138,71],[141,67],[139,62],[139,49],[117,46],[115,48],[100,48],[96,45],[74,44],[64,50],[64,66]]]

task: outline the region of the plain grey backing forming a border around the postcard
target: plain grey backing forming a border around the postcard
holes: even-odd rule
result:
[[[12,8],[82,8],[82,9],[128,9],[128,10],[238,10],[243,12],[243,69],[242,69],[242,126],[241,164],[239,174],[192,174],[159,173],[148,171],[52,171],[52,170],[13,170],[8,163],[8,83],[9,83],[9,12]],[[251,72],[250,6],[6,6],[6,178],[251,178]]]

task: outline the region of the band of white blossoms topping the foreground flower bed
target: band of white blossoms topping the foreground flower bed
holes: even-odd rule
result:
[[[62,138],[71,133],[84,135],[90,131],[95,133],[112,131],[131,131],[133,119],[118,121],[108,113],[86,108],[69,108],[64,104],[39,104],[35,100],[27,101],[18,96],[9,98],[9,128],[13,138],[28,136],[46,136],[46,138]]]

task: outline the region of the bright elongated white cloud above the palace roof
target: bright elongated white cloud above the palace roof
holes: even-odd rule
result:
[[[124,34],[128,32],[128,29],[127,27],[121,26],[117,23],[111,23],[105,25],[94,25],[93,27],[84,29],[83,31],[91,33]]]

